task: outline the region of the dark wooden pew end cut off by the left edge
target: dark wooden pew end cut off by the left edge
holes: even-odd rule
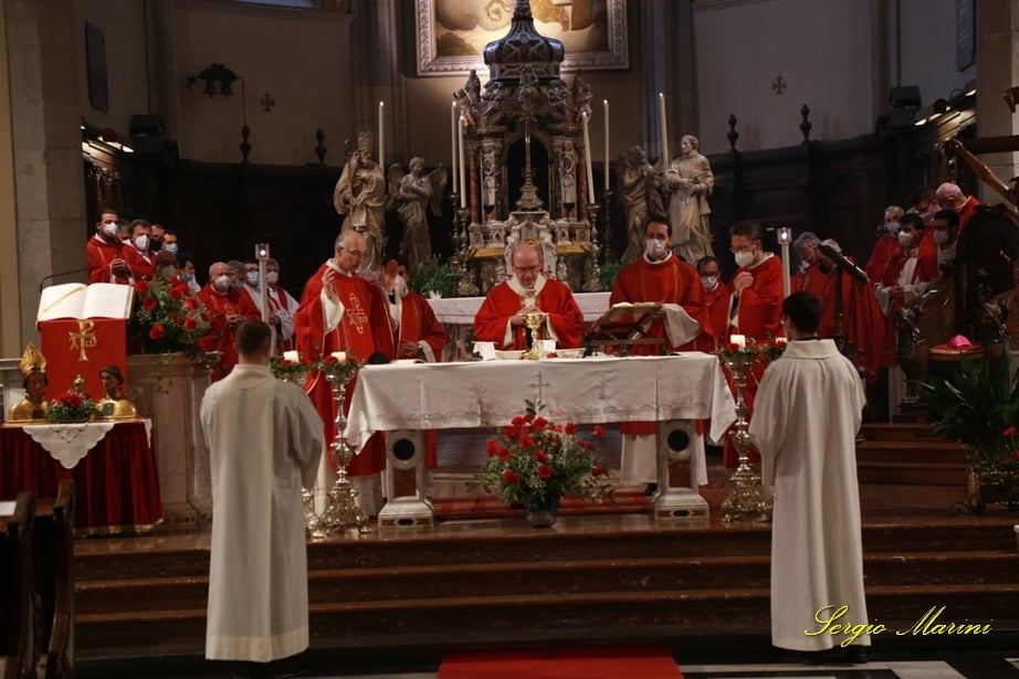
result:
[[[3,679],[35,678],[35,587],[32,529],[35,498],[22,492],[0,512],[0,661]]]

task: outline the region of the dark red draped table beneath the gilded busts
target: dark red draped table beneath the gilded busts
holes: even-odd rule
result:
[[[31,431],[46,425],[25,426]],[[118,422],[105,435],[102,424],[77,426],[92,427],[86,434],[98,439],[87,452],[81,452],[84,457],[67,455],[49,443],[53,453],[48,452],[23,426],[0,427],[0,499],[13,499],[22,490],[36,497],[56,497],[60,480],[71,477],[76,495],[76,532],[151,530],[162,521],[151,422]],[[33,433],[38,435],[38,431]]]

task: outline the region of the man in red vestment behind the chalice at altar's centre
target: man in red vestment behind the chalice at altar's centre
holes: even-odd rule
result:
[[[537,339],[553,339],[563,349],[580,347],[584,314],[566,284],[542,275],[538,248],[521,243],[509,262],[513,277],[489,290],[474,316],[474,337],[500,349],[527,349],[527,316],[543,314]]]

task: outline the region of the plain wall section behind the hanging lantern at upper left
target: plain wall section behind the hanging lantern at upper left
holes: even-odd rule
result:
[[[354,119],[348,14],[193,0],[178,2],[176,12],[181,158],[240,162],[246,114],[251,162],[317,162],[321,127],[329,148],[326,162],[343,163],[343,139]],[[242,76],[243,87],[238,81],[233,96],[209,96],[197,81],[188,91],[186,78],[212,63]],[[274,99],[271,110],[260,105],[266,93]]]

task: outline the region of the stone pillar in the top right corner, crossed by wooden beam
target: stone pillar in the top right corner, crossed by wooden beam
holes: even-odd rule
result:
[[[980,2],[977,8],[977,131],[980,137],[1019,134],[1019,113],[1011,113],[1001,94],[1019,85],[1019,0]],[[1017,173],[1016,153],[986,153],[980,160],[1002,181]],[[980,200],[1000,197],[980,183]]]

